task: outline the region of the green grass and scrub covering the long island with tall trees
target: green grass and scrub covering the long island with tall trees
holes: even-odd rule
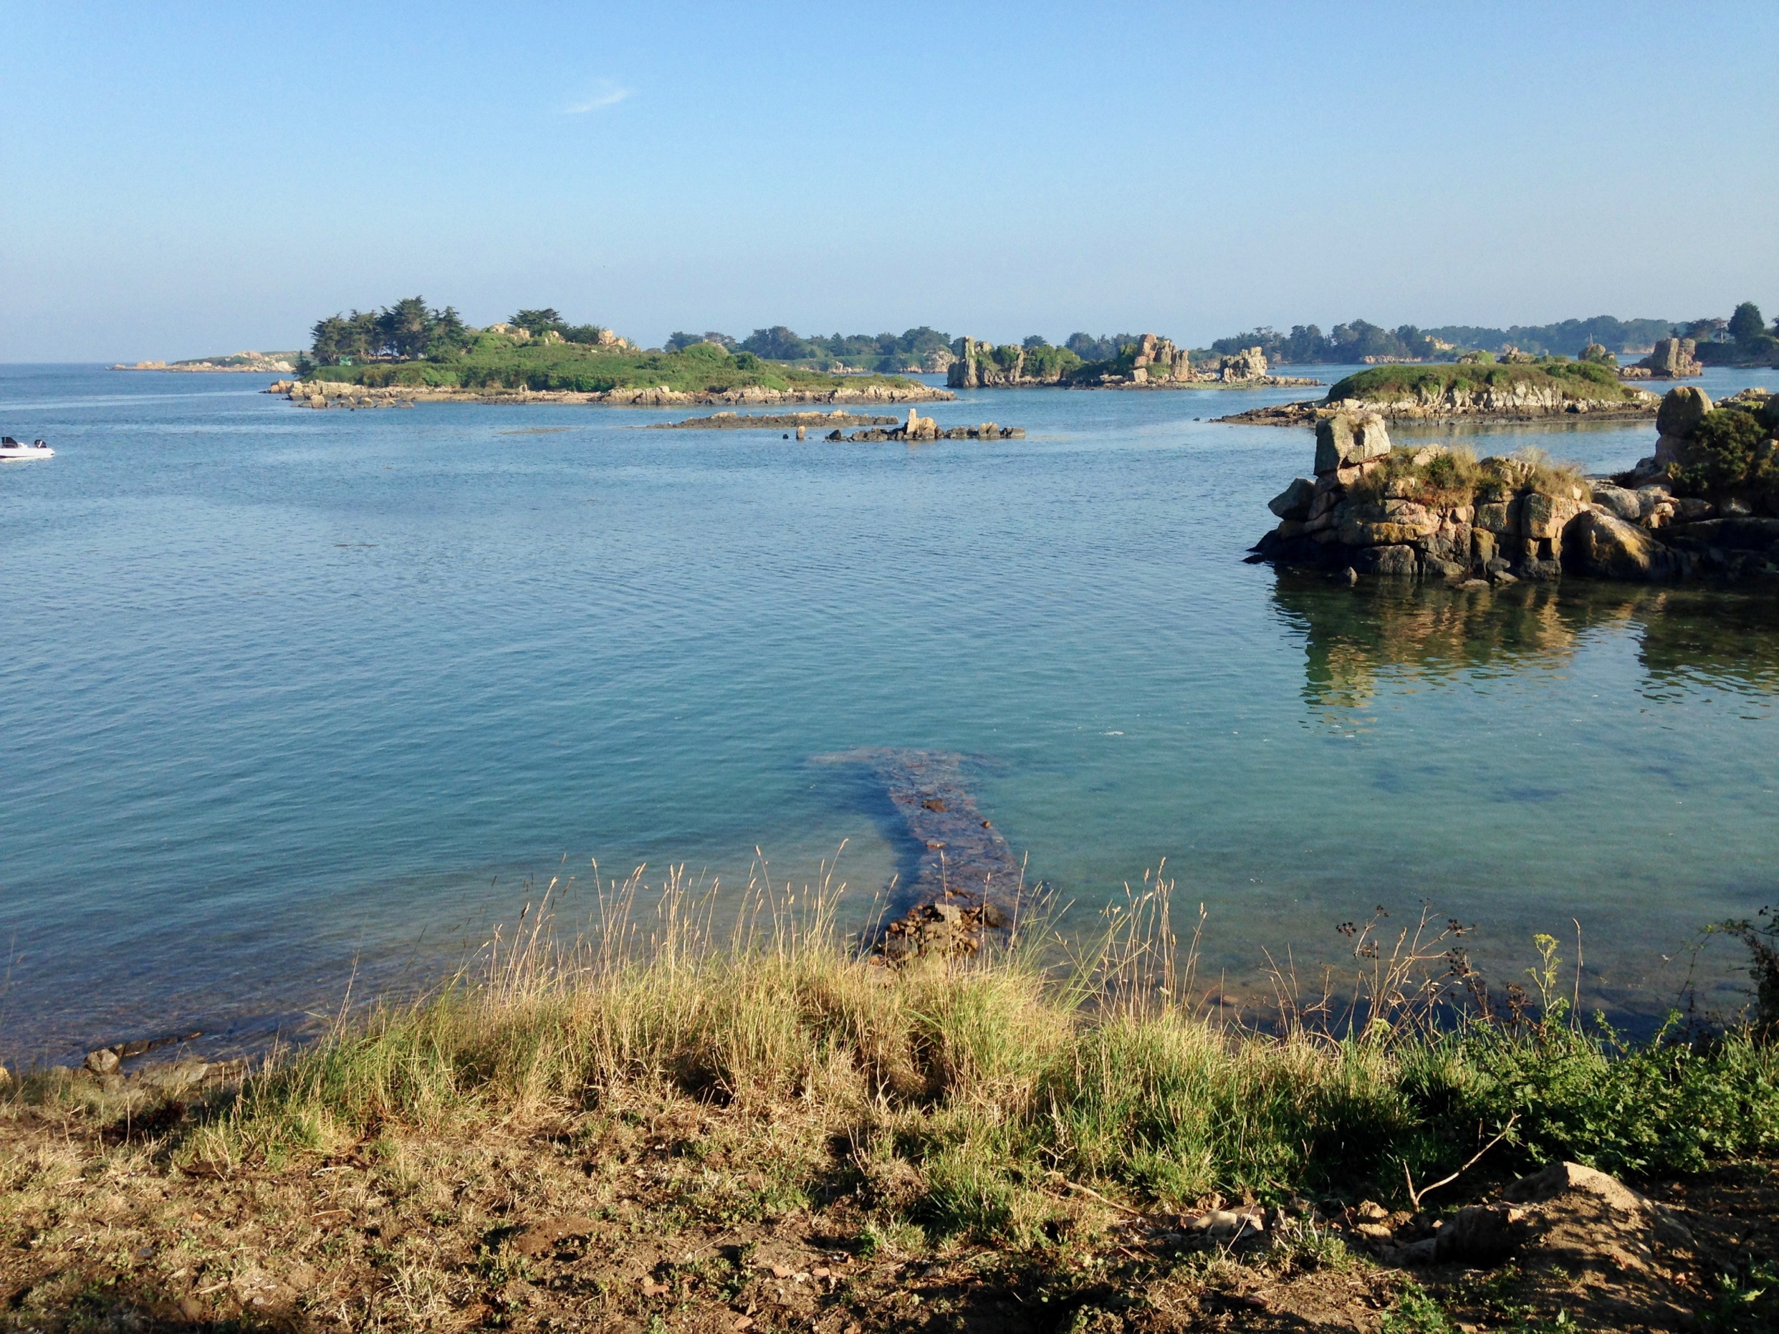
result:
[[[907,386],[897,375],[824,375],[799,366],[729,354],[713,343],[680,352],[612,350],[585,343],[516,343],[503,334],[482,334],[450,361],[318,366],[308,379],[336,384],[432,386],[461,390],[571,390],[605,393],[617,388],[660,388],[681,393],[720,393],[760,386],[767,390],[836,390],[866,384]]]

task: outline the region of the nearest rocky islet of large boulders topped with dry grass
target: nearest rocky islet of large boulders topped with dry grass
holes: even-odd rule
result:
[[[1379,413],[1316,422],[1315,478],[1270,509],[1254,560],[1461,585],[1697,576],[1779,585],[1779,395],[1713,407],[1670,390],[1654,452],[1615,477],[1539,454],[1477,459],[1452,445],[1391,445]]]

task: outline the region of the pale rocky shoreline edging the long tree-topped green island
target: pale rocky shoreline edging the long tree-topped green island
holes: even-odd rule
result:
[[[578,393],[573,390],[457,390],[425,384],[372,388],[338,381],[278,381],[265,393],[283,395],[299,407],[413,407],[415,404],[571,404],[605,407],[767,407],[777,404],[911,404],[952,400],[957,395],[929,384],[866,384],[863,390],[742,390],[681,393],[680,390],[617,388]]]

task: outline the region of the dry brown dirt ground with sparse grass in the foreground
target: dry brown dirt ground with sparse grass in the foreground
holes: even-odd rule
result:
[[[932,1245],[897,1206],[906,1181],[845,1133],[822,1145],[808,1126],[683,1099],[423,1138],[384,1128],[327,1158],[228,1169],[173,1165],[180,1115],[174,1103],[146,1126],[23,1108],[0,1121],[0,1327],[1779,1327],[1761,1279],[1779,1259],[1774,1163],[1638,1183],[1667,1220],[1653,1240],[1596,1245],[1566,1215],[1482,1266],[1414,1266],[1402,1238],[1430,1215],[1324,1201],[1219,1238],[1062,1179],[1021,1245]],[[1453,1186],[1446,1217],[1500,1185]]]

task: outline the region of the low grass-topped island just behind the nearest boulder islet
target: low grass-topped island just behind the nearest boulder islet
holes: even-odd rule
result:
[[[1551,416],[1654,416],[1662,400],[1619,381],[1614,366],[1551,356],[1526,363],[1368,366],[1325,398],[1254,407],[1219,422],[1299,427],[1345,413],[1411,420],[1535,422]]]

